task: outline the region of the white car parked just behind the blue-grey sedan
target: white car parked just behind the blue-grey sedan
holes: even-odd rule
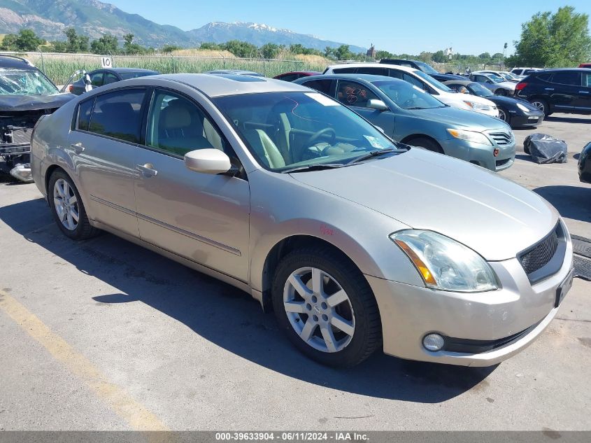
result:
[[[483,99],[483,97],[477,97],[476,95],[467,96],[466,94],[457,94],[457,92],[435,80],[432,76],[418,69],[408,68],[406,66],[383,63],[333,64],[332,66],[328,66],[323,73],[366,73],[376,76],[400,78],[421,90],[429,92],[429,94],[434,95],[439,101],[443,101],[444,104],[448,104],[454,108],[476,111],[490,115],[491,117],[499,116],[497,105],[492,101]]]

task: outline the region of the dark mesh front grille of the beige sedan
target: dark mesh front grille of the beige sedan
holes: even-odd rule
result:
[[[529,281],[535,283],[558,272],[565,253],[566,238],[562,225],[558,223],[550,234],[518,254],[517,258]]]

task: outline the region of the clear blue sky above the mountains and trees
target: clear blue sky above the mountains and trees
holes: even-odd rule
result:
[[[327,40],[394,53],[452,47],[454,52],[502,52],[520,36],[521,24],[543,10],[574,6],[591,15],[590,0],[355,1],[345,0],[103,0],[159,24],[194,29],[208,22],[257,22]],[[478,3],[478,4],[477,4]]]

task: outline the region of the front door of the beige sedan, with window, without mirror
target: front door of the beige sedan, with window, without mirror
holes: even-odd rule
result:
[[[138,146],[134,188],[140,237],[218,272],[248,281],[250,188],[243,178],[201,174],[185,153],[204,148],[236,155],[192,99],[155,90],[145,145]]]

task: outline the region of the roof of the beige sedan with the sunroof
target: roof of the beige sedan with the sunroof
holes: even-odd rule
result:
[[[160,74],[125,80],[127,85],[150,85],[155,80],[181,83],[203,92],[208,97],[222,97],[262,92],[310,92],[307,87],[266,77],[218,73]],[[115,85],[115,83],[111,83]],[[118,83],[120,84],[120,83]]]

